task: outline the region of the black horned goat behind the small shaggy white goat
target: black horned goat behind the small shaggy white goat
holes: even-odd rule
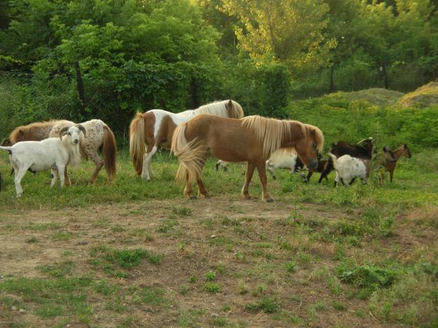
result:
[[[371,156],[373,154],[373,142],[374,140],[371,137],[358,142],[358,144],[349,144],[348,142],[343,141],[334,142],[329,152],[336,156],[336,158],[339,158],[343,155],[350,155],[356,158],[365,158],[371,160]],[[332,157],[329,156],[318,183],[321,183],[323,178],[327,179],[327,175],[329,175],[333,169],[333,160]]]

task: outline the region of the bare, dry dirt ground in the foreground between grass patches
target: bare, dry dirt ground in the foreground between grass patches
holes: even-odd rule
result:
[[[164,289],[170,300],[165,307],[133,303],[129,292],[125,292],[128,310],[118,313],[109,309],[108,299],[90,292],[88,301],[93,306],[90,322],[100,327],[116,327],[126,317],[137,327],[381,326],[369,314],[367,301],[348,296],[352,287],[343,285],[345,292],[334,296],[325,280],[312,278],[315,269],[327,266],[331,270],[336,265],[332,260],[336,250],[331,243],[294,236],[282,224],[291,212],[298,213],[303,220],[314,221],[355,215],[324,205],[295,207],[289,203],[228,197],[182,200],[178,205],[173,200],[13,211],[0,217],[0,282],[17,277],[50,279],[41,273],[41,266],[68,259],[74,262],[72,274],[90,273],[93,280],[107,279],[126,290],[132,285],[157,287]],[[163,228],[166,224],[167,228]],[[146,232],[147,238],[136,231]],[[56,238],[60,235],[67,237]],[[29,242],[32,238],[38,242]],[[163,254],[163,260],[160,264],[142,260],[129,270],[128,278],[114,278],[91,263],[90,248],[96,245],[142,248]],[[297,261],[296,270],[287,272],[285,263],[296,260],[303,251],[310,254],[308,264]],[[214,282],[221,287],[217,294],[204,290],[208,271],[217,273]],[[197,281],[191,281],[193,276]],[[254,292],[259,285],[264,290]],[[248,304],[264,296],[278,301],[282,316],[248,310]],[[20,299],[20,294],[11,297]],[[342,303],[345,310],[336,310],[332,306],[334,301]],[[11,318],[15,323],[35,326],[60,323],[59,317],[46,319],[32,313],[32,304],[18,317],[0,303],[2,310],[0,325],[11,324]],[[189,315],[186,324],[182,322],[184,313]],[[74,314],[67,317],[71,327],[82,325]],[[219,322],[217,318],[223,320]]]

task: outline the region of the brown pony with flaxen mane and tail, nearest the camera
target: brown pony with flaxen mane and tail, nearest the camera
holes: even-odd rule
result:
[[[191,179],[198,184],[198,195],[210,198],[201,179],[207,151],[227,162],[247,162],[242,198],[251,198],[249,182],[254,169],[259,172],[263,187],[261,200],[272,202],[266,189],[266,160],[280,148],[294,148],[308,168],[316,168],[318,151],[322,151],[324,136],[319,128],[299,121],[280,121],[261,116],[221,118],[200,115],[177,126],[171,151],[179,159],[177,179],[184,180],[184,196],[194,199]]]

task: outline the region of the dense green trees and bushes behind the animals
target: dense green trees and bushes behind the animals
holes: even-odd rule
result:
[[[296,98],[438,77],[437,2],[10,0],[0,4],[0,134],[48,118],[182,111],[232,97],[289,116]]]

